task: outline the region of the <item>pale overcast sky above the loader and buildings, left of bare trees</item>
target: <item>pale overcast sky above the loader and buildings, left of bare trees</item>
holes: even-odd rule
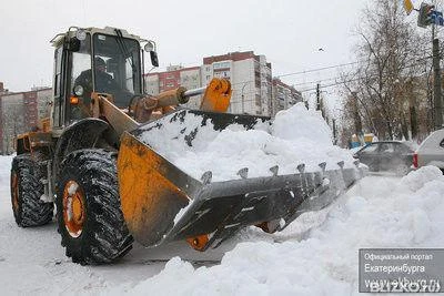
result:
[[[169,64],[200,65],[203,57],[248,50],[266,55],[273,75],[349,63],[356,42],[353,29],[366,2],[2,0],[0,81],[10,91],[51,85],[49,40],[70,25],[110,25],[152,39],[160,70]],[[334,75],[322,71],[283,80],[307,89],[310,82]]]

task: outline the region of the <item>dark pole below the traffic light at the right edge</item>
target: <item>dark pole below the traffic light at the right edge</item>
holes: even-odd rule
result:
[[[434,124],[435,130],[443,127],[443,102],[441,89],[441,67],[440,67],[440,40],[433,39],[433,89],[434,89]]]

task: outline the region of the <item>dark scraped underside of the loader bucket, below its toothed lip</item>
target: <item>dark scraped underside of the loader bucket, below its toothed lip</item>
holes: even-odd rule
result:
[[[199,192],[165,239],[193,237],[204,251],[218,247],[240,228],[256,225],[282,231],[305,212],[330,205],[356,180],[354,169],[323,173],[228,181]],[[326,184],[325,180],[332,181]],[[202,244],[201,241],[204,241]]]

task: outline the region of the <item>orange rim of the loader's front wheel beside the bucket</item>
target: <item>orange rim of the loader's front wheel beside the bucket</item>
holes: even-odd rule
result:
[[[63,221],[72,237],[79,237],[82,234],[85,216],[83,191],[75,181],[71,180],[63,190]]]

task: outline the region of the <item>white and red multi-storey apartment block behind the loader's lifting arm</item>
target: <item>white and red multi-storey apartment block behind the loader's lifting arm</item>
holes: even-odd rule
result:
[[[280,110],[302,102],[302,94],[279,79],[272,79],[272,65],[265,55],[253,51],[231,52],[203,58],[201,67],[170,65],[164,72],[145,75],[149,94],[173,90],[180,85],[196,89],[208,85],[213,78],[230,80],[232,98],[230,113],[274,116]],[[186,104],[199,109],[201,96]]]

